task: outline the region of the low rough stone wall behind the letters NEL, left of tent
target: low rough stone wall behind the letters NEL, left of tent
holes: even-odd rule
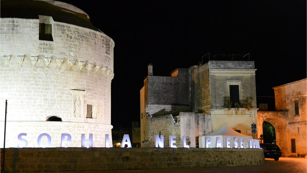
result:
[[[186,144],[196,147],[195,137],[211,133],[209,114],[183,113],[179,116],[146,116],[145,141],[142,147],[155,147],[155,135],[164,135],[164,147],[169,147],[169,136],[176,136],[176,146],[182,147],[182,137]]]

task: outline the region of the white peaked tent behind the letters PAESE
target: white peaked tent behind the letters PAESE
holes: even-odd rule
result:
[[[200,148],[257,148],[258,145],[259,140],[235,132],[226,124],[211,134],[199,137]]]

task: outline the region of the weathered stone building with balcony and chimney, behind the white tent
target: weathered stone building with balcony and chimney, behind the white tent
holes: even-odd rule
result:
[[[201,66],[176,69],[171,76],[148,76],[140,91],[141,141],[152,147],[154,135],[187,138],[190,147],[198,137],[227,124],[253,136],[257,122],[254,61],[209,60]]]

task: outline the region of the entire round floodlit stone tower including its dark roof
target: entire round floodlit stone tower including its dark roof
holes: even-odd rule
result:
[[[114,41],[72,5],[57,1],[1,1],[0,110],[8,100],[6,147],[80,147],[81,134],[104,147],[111,129]],[[0,138],[3,139],[4,116]],[[56,121],[55,121],[56,120]],[[55,121],[55,122],[53,122]],[[61,121],[61,122],[59,122]],[[47,136],[43,136],[44,142]],[[86,143],[89,145],[89,142]],[[3,147],[3,141],[1,141]]]

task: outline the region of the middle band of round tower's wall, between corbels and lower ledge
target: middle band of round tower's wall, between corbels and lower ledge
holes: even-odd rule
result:
[[[102,74],[102,69],[95,66],[88,68],[89,64],[82,66],[78,61],[73,66],[64,61],[59,67],[56,59],[43,56],[34,59],[34,66],[28,55],[11,56],[8,65],[0,59],[0,99],[8,100],[8,121],[46,121],[48,116],[73,121],[70,91],[84,90],[84,106],[86,103],[97,106],[95,121],[111,124],[111,75]],[[1,104],[0,108],[4,110],[4,106]]]

